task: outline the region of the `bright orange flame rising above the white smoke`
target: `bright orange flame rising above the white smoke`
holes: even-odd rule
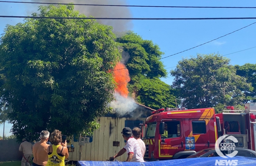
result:
[[[119,94],[121,94],[121,96],[126,98],[129,94],[127,83],[131,79],[129,76],[128,69],[123,69],[123,68],[125,68],[125,65],[121,62],[118,62],[118,64],[115,66],[114,77],[115,77],[115,82],[117,83],[117,88],[115,89],[115,92],[118,92]]]

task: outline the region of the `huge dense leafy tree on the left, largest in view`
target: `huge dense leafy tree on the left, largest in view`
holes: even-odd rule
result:
[[[73,5],[40,6],[40,17],[86,17]],[[12,104],[12,132],[91,135],[111,111],[113,70],[121,60],[112,27],[95,20],[28,18],[7,25],[0,39],[1,101]]]

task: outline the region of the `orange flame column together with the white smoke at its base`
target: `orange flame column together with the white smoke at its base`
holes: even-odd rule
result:
[[[110,103],[109,106],[113,108],[113,112],[116,113],[118,117],[127,114],[133,117],[133,111],[138,107],[138,104],[135,103],[133,98],[128,96],[129,91],[127,84],[131,79],[129,77],[128,69],[123,68],[125,68],[125,65],[121,62],[115,66],[114,77],[115,82],[118,84],[114,94],[116,101]]]

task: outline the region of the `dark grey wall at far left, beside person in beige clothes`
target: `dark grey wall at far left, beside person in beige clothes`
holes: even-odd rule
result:
[[[16,139],[0,140],[0,162],[22,160]]]

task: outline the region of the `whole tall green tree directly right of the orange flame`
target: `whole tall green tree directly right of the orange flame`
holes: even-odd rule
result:
[[[148,107],[173,108],[175,97],[172,89],[159,79],[168,74],[163,62],[158,60],[164,54],[159,46],[132,31],[116,41],[124,51],[123,60],[131,77],[128,83],[130,94],[134,94],[139,103]]]

